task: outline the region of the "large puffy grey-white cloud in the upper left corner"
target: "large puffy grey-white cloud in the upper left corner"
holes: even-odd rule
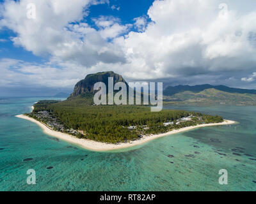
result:
[[[98,62],[125,61],[120,50],[104,39],[115,37],[124,27],[114,24],[98,32],[81,23],[90,5],[104,1],[38,0],[35,19],[26,16],[28,3],[28,0],[4,3],[0,24],[17,33],[17,37],[12,38],[15,45],[35,55],[51,55],[86,67]]]

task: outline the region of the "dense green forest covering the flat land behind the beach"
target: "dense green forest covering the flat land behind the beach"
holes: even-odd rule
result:
[[[148,106],[134,105],[91,105],[90,98],[75,98],[63,102],[40,101],[33,113],[41,110],[51,112],[63,122],[65,127],[77,129],[83,133],[80,138],[107,143],[137,140],[140,135],[166,133],[173,129],[195,126],[202,123],[222,122],[220,116],[209,116],[183,110],[162,110],[150,112]],[[33,115],[33,114],[32,114]],[[191,120],[177,122],[183,117]],[[164,126],[164,122],[174,122],[172,126]],[[134,129],[127,127],[136,126]]]

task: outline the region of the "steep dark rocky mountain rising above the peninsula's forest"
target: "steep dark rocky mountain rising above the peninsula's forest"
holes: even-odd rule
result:
[[[93,90],[94,84],[97,82],[103,82],[107,86],[108,93],[108,78],[113,77],[114,84],[117,82],[124,82],[127,87],[128,84],[125,82],[124,78],[121,75],[114,73],[113,71],[104,71],[91,75],[87,75],[84,80],[77,82],[74,91],[70,94],[69,98],[74,98],[76,96],[91,96],[93,93],[97,92]]]

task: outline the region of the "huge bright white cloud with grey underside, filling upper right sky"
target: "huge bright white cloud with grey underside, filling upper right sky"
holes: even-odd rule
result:
[[[234,5],[233,5],[234,6]],[[226,7],[225,7],[226,8]],[[216,1],[155,1],[142,33],[120,41],[130,65],[127,77],[175,78],[223,75],[255,68],[256,13],[239,15]]]

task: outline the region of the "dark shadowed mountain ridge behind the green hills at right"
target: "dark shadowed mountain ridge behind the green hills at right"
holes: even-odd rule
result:
[[[169,86],[164,89],[164,96],[173,96],[174,94],[184,92],[184,91],[190,91],[194,93],[198,93],[201,91],[204,91],[205,89],[216,89],[219,91],[224,91],[228,93],[239,93],[239,94],[256,94],[256,90],[252,89],[236,89],[236,88],[230,88],[225,85],[209,85],[209,84],[203,84],[203,85],[195,85],[195,86],[189,86],[189,85],[177,85],[175,87]]]

